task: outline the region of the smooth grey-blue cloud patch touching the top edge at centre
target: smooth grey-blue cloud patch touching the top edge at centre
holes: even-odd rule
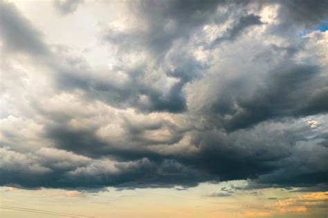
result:
[[[116,32],[109,29],[104,39],[124,48],[149,50],[155,57],[163,57],[174,40],[188,40],[190,33],[212,19],[217,6],[224,1],[135,1],[131,10],[147,26],[146,31]]]

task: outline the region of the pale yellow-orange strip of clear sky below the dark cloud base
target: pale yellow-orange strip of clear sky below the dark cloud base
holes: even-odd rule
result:
[[[243,181],[200,184],[187,190],[145,188],[104,192],[1,188],[1,206],[16,206],[93,217],[325,217],[328,192],[291,192],[281,188],[235,190],[226,197],[213,192]],[[307,207],[305,207],[307,206]],[[56,217],[1,208],[1,217]]]

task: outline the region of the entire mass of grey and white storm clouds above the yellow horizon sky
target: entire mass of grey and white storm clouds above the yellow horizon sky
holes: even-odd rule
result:
[[[108,68],[1,2],[0,184],[327,188],[326,3],[122,2]]]

